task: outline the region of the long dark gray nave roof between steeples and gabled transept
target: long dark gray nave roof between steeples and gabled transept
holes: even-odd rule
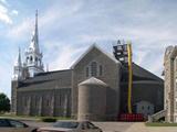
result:
[[[71,69],[41,73],[20,82],[20,89],[71,88]]]

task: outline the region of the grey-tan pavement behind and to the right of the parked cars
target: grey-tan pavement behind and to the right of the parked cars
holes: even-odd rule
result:
[[[23,121],[33,127],[50,127],[52,123]],[[144,122],[93,122],[104,132],[177,132],[177,127],[146,127]]]

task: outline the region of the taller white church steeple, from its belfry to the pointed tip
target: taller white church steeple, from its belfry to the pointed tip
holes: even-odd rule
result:
[[[39,48],[38,10],[35,12],[35,25],[31,43],[25,52],[25,64],[29,69],[30,77],[33,77],[38,73],[44,72],[42,63],[42,53]]]

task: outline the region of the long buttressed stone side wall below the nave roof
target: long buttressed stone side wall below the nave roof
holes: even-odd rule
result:
[[[19,91],[18,114],[70,117],[71,88]]]

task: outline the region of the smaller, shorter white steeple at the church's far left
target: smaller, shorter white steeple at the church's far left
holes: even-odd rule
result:
[[[14,62],[14,68],[13,68],[13,80],[22,79],[22,64],[21,64],[21,51],[19,47],[19,55],[17,57],[17,61]]]

